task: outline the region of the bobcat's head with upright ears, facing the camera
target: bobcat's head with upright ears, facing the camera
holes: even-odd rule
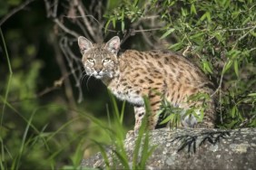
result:
[[[113,78],[120,48],[118,36],[114,36],[103,44],[93,44],[80,36],[78,45],[83,54],[82,62],[87,75],[94,76],[96,79]]]

